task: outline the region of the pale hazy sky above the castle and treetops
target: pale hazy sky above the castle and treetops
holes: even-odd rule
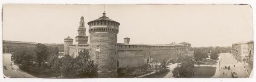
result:
[[[88,23],[103,11],[103,5],[4,5],[3,40],[64,43],[68,35],[77,36],[81,16]],[[249,5],[105,5],[105,13],[121,24],[119,43],[124,37],[130,37],[130,43],[185,41],[192,46],[253,40]]]

